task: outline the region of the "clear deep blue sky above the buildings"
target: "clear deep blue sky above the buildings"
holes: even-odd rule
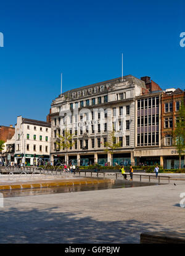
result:
[[[1,1],[0,125],[46,120],[63,91],[121,76],[185,89],[183,0]]]

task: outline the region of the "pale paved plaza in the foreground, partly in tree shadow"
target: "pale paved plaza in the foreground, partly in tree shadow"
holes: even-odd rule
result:
[[[185,181],[175,180],[156,186],[7,197],[0,208],[0,243],[139,243],[143,232],[182,235],[183,192]]]

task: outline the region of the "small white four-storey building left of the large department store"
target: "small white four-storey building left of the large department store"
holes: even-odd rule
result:
[[[51,124],[17,117],[15,125],[15,163],[37,165],[49,161]]]

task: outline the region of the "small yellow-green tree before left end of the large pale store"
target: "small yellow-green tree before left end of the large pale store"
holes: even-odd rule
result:
[[[65,150],[66,149],[66,155],[68,159],[68,149],[70,149],[75,142],[72,141],[73,139],[73,134],[70,134],[70,131],[65,129],[64,131],[64,136],[57,134],[58,138],[56,141],[56,144],[59,146],[59,149]],[[67,165],[68,165],[68,160],[67,160]]]

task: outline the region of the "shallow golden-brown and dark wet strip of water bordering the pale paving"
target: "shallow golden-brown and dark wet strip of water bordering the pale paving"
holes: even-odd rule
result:
[[[1,190],[4,197],[16,197],[16,196],[35,196],[42,194],[55,194],[55,193],[67,193],[67,192],[80,192],[91,191],[99,189],[117,189],[117,188],[134,188],[139,186],[158,186],[158,183],[146,183],[137,181],[123,181],[115,180],[114,183],[98,183],[98,184],[83,184],[75,186],[59,186],[50,188],[31,188],[31,189],[12,189]]]

